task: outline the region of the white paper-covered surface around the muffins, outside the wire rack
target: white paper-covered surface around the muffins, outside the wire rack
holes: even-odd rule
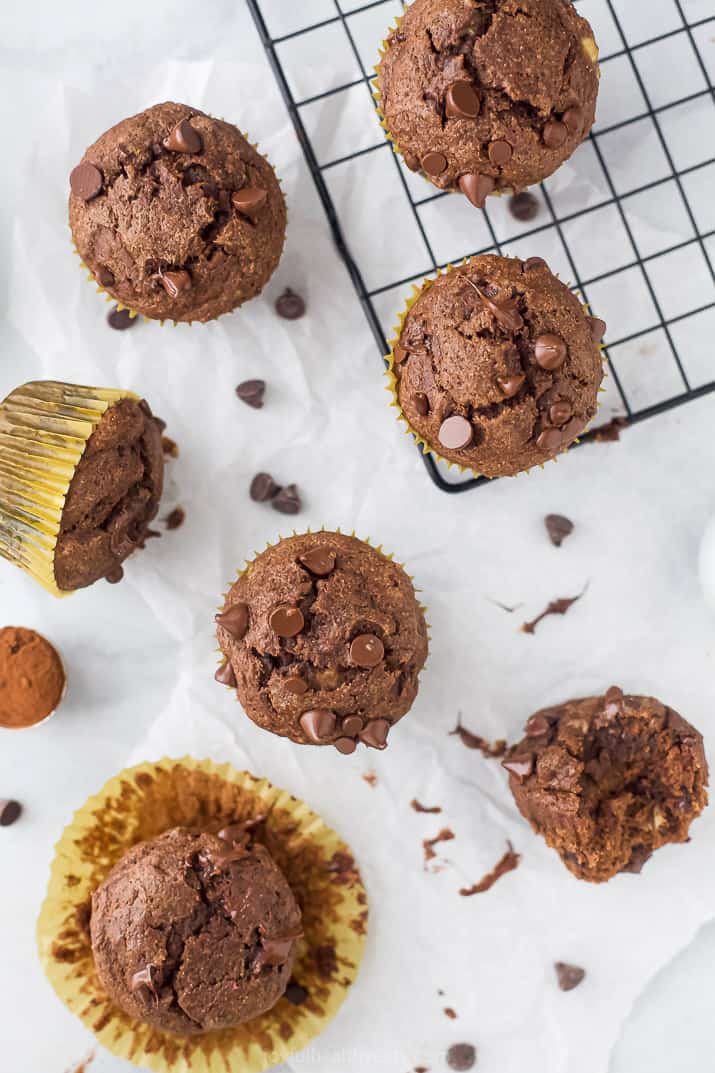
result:
[[[288,0],[273,2],[284,17]],[[373,339],[243,3],[211,0],[198,11],[186,0],[150,9],[127,0],[117,11],[40,0],[31,19],[5,5],[0,42],[8,251],[0,397],[47,376],[145,392],[180,443],[169,495],[188,511],[185,527],[152,542],[113,589],[58,603],[0,563],[2,622],[40,628],[61,648],[70,676],[55,720],[0,741],[0,792],[26,805],[23,822],[1,835],[4,1067],[61,1073],[91,1047],[34,957],[52,846],[105,778],[170,749],[273,777],[358,851],[373,908],[364,970],[316,1048],[291,1063],[295,1071],[442,1070],[446,1047],[458,1039],[479,1045],[485,1073],[712,1069],[712,925],[681,953],[715,916],[711,813],[690,846],[663,850],[639,879],[578,884],[514,814],[498,767],[447,733],[462,711],[486,736],[513,737],[536,707],[619,681],[660,695],[712,741],[715,621],[697,559],[715,498],[715,401],[448,500],[385,411]],[[77,281],[67,173],[100,130],[164,94],[236,118],[260,139],[284,179],[289,242],[265,299],[238,317],[118,336]],[[284,285],[309,303],[309,315],[293,325],[272,311]],[[258,374],[269,384],[261,413],[232,394]],[[418,704],[384,755],[345,763],[324,752],[296,755],[243,720],[210,680],[217,596],[281,528],[278,515],[247,499],[257,468],[297,481],[306,526],[379,538],[424,590],[432,658]],[[577,521],[560,550],[542,532],[549,511]],[[550,620],[535,637],[517,632],[522,614],[586,582],[568,619]],[[524,606],[509,616],[492,599]],[[379,775],[376,789],[360,778],[368,766]],[[457,834],[452,866],[438,876],[422,872],[420,840],[437,824],[411,813],[414,795],[442,805],[437,819]],[[465,906],[455,886],[488,869],[505,837],[523,853],[521,868]],[[554,988],[557,958],[588,970],[572,995]],[[457,1021],[443,1016],[442,1003],[457,1010]],[[102,1053],[94,1068],[126,1067]]]

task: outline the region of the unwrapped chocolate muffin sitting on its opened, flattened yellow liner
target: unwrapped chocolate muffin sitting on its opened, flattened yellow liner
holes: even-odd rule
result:
[[[130,850],[92,895],[97,972],[131,1017],[193,1035],[250,1020],[283,995],[301,911],[245,835],[167,831]]]

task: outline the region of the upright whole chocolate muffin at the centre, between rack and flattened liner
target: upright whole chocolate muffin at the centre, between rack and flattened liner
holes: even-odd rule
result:
[[[427,657],[412,584],[392,559],[341,533],[281,540],[229,590],[216,618],[247,715],[300,745],[384,749]]]

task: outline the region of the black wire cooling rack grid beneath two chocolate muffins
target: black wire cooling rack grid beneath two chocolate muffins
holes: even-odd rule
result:
[[[377,115],[369,120],[374,136],[370,131],[363,137],[367,144],[349,145],[348,151],[333,146],[332,153],[316,144],[321,127],[323,134],[331,128],[333,107],[339,116],[349,116],[355,105],[364,112],[365,101],[354,94],[369,97],[373,106],[378,46],[406,6],[404,0],[248,0],[248,5],[381,355],[389,351],[385,328],[403,308],[406,288],[424,276],[465,255],[544,255],[609,323],[613,412],[630,424],[715,391],[715,346],[710,343],[715,338],[712,0],[577,0],[604,54],[599,118],[578,150],[586,180],[564,183],[561,168],[542,183],[535,191],[540,214],[531,224],[510,219],[507,199],[490,199],[479,214],[466,207],[466,199],[450,197],[451,204],[459,203],[459,214],[477,214],[481,220],[479,226],[465,226],[462,217],[454,220],[457,246],[449,250],[447,203],[439,207],[441,219],[435,211],[435,203],[448,195],[405,168]],[[302,94],[305,85],[308,92]],[[611,106],[607,102],[603,119],[603,88],[609,85]],[[316,123],[316,115],[322,115],[322,122]],[[415,270],[406,258],[399,267],[409,275],[400,271],[398,278],[392,278],[394,266],[390,271],[371,262],[369,241],[354,231],[361,221],[349,220],[339,204],[347,207],[348,200],[337,196],[331,183],[345,172],[342,187],[349,191],[350,167],[364,168],[366,159],[378,153],[393,161],[395,173],[390,171],[389,179],[414,227]],[[380,181],[389,179],[382,172]],[[369,225],[386,227],[390,220],[380,220],[377,212]],[[475,231],[478,242],[469,248]],[[388,270],[389,278],[380,277],[379,269]],[[423,458],[443,491],[465,491],[485,481],[450,481],[431,456]]]

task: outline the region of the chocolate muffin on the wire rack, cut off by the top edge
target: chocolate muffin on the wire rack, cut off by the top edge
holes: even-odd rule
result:
[[[414,0],[386,46],[378,99],[405,163],[479,208],[545,179],[594,123],[598,48],[570,0]]]

